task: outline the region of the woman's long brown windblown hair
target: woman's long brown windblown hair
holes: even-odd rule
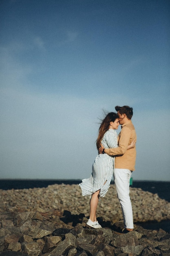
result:
[[[118,115],[116,113],[110,112],[106,115],[106,117],[103,120],[101,120],[102,123],[99,127],[99,134],[96,140],[97,149],[99,149],[99,146],[101,144],[101,141],[105,132],[109,129],[110,122],[114,122],[117,118],[118,118]]]

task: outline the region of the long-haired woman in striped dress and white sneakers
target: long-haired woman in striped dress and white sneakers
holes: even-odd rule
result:
[[[97,149],[100,144],[104,148],[117,147],[117,130],[119,127],[118,115],[114,112],[108,113],[103,119],[99,127],[99,134],[96,141]],[[134,144],[130,144],[129,148],[133,148]],[[110,186],[110,181],[113,175],[115,157],[108,154],[97,155],[92,167],[91,177],[82,180],[79,186],[82,189],[82,195],[91,195],[90,200],[90,217],[86,223],[93,228],[101,228],[96,218],[96,210],[99,202],[99,197],[104,197]]]

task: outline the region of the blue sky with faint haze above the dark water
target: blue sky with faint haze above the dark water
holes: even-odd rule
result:
[[[170,181],[169,13],[169,0],[0,1],[0,179],[88,178],[99,119],[128,105],[133,180]]]

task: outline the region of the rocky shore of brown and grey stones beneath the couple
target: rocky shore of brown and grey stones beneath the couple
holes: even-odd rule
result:
[[[0,190],[0,256],[170,256],[170,202],[130,188],[134,231],[119,234],[115,186],[100,199],[101,229],[86,226],[89,197],[76,184]]]

